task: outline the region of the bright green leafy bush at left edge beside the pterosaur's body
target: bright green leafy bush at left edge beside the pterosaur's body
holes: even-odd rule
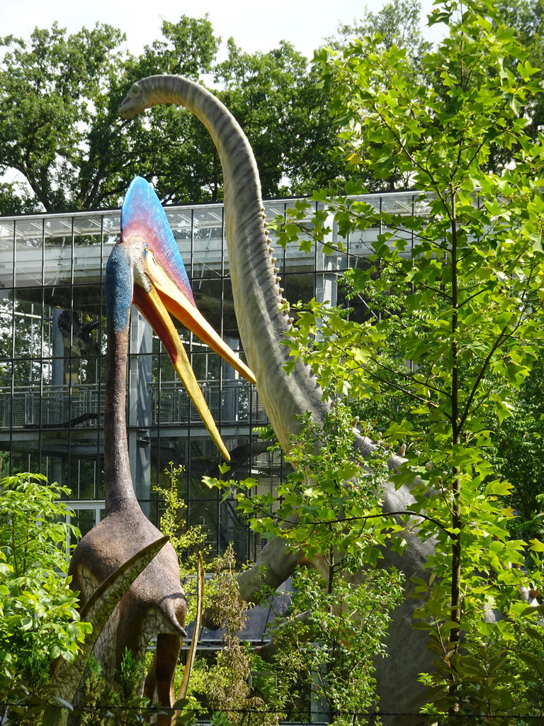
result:
[[[79,620],[67,580],[73,514],[67,489],[40,474],[0,480],[0,693],[40,690],[57,656],[72,661],[91,626]],[[4,706],[5,708],[5,706]]]

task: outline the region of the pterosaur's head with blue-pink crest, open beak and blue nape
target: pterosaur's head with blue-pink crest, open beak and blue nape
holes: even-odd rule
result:
[[[170,314],[244,378],[255,383],[255,377],[239,356],[223,343],[194,304],[185,266],[165,212],[150,184],[140,176],[133,179],[123,201],[121,237],[110,255],[106,282],[110,325],[114,330],[127,325],[130,302],[136,305],[162,340],[210,436],[228,460],[228,452]]]

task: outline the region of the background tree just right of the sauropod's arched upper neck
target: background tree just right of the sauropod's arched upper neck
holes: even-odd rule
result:
[[[342,166],[329,154],[335,131],[308,59],[285,41],[249,54],[231,38],[227,49],[214,69],[218,97],[247,135],[263,195],[303,195],[329,184]]]

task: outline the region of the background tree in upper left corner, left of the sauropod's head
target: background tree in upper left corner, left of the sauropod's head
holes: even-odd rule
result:
[[[82,187],[78,172],[83,149],[92,156],[93,106],[104,97],[102,79],[114,72],[123,37],[108,25],[67,36],[54,23],[51,30],[36,28],[29,48],[13,36],[1,38],[0,169],[24,176],[35,209],[81,208],[100,200],[90,184]],[[104,175],[95,171],[99,184]]]

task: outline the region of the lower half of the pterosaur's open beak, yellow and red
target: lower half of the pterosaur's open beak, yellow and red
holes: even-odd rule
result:
[[[162,340],[170,355],[173,368],[181,379],[181,383],[184,384],[185,390],[193,402],[194,407],[199,412],[199,416],[202,418],[215,446],[218,447],[223,458],[226,461],[230,461],[231,457],[228,454],[225,444],[223,444],[223,439],[221,439],[210,409],[207,407],[206,400],[202,396],[202,391],[191,368],[189,357],[186,354],[183,343],[181,343],[178,331],[174,327],[172,319],[168,314],[168,310],[162,304],[159,293],[157,293],[154,287],[146,291],[143,287],[134,285],[133,303]]]

